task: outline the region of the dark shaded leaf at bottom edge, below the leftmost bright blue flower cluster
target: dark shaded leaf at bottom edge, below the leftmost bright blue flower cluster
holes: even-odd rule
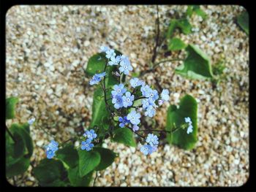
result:
[[[63,164],[55,159],[43,159],[33,171],[41,186],[64,185],[60,181],[67,178],[67,171],[64,169]]]

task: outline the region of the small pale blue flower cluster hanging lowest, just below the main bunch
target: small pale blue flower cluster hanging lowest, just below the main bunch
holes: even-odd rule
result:
[[[158,145],[158,137],[154,134],[148,134],[148,137],[146,138],[146,144],[140,147],[140,151],[144,155],[150,155],[154,151],[157,150]]]

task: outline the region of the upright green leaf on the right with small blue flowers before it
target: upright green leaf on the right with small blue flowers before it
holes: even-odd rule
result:
[[[187,134],[187,128],[179,128],[172,134],[167,134],[167,141],[170,144],[178,145],[178,147],[185,150],[191,150],[195,147],[197,142],[197,101],[192,96],[184,96],[177,108],[175,105],[171,105],[167,110],[167,124],[166,130],[172,131],[175,123],[176,127],[185,123],[184,118],[191,118],[193,131]]]

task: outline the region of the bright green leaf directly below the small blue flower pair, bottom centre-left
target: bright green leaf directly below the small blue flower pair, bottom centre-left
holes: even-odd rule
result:
[[[79,174],[80,177],[89,174],[92,170],[99,165],[100,155],[93,150],[78,150],[79,155]]]

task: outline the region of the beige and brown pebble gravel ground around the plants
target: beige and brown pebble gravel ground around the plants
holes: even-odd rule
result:
[[[178,104],[185,93],[198,102],[198,142],[194,150],[161,145],[144,156],[137,147],[105,142],[119,153],[112,166],[99,172],[97,186],[239,186],[249,177],[249,39],[234,22],[244,8],[202,6],[203,21],[191,18],[194,33],[176,33],[198,45],[212,64],[225,60],[226,78],[217,88],[208,81],[187,80],[174,74],[180,63],[165,63],[143,77],[159,81]],[[171,18],[184,15],[187,6],[159,6],[161,30]],[[148,69],[154,46],[155,6],[15,6],[7,12],[7,96],[18,96],[17,119],[38,120],[31,128],[32,163],[55,135],[61,142],[81,134],[89,125],[93,87],[83,69],[100,45],[129,55],[137,71]],[[200,30],[198,30],[200,29]],[[182,51],[179,55],[184,55]],[[177,58],[173,53],[169,58]],[[157,61],[164,59],[159,55]],[[153,77],[154,75],[154,77]],[[165,104],[155,119],[165,127]],[[10,125],[10,121],[7,122]],[[45,130],[45,131],[43,131]],[[37,186],[29,172],[15,177],[15,185]],[[10,180],[13,183],[13,180]]]

